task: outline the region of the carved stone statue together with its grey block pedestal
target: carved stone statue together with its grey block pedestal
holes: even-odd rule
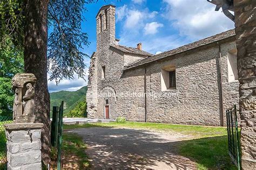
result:
[[[4,125],[6,169],[42,169],[41,129],[44,124],[35,123],[36,77],[31,73],[18,73],[11,84],[15,92],[14,121]]]

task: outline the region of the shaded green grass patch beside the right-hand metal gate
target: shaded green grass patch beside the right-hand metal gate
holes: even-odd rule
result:
[[[228,155],[227,136],[181,141],[178,151],[195,161],[198,169],[237,169]]]

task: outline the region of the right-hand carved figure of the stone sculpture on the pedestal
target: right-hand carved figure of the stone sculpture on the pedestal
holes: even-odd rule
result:
[[[26,93],[23,96],[23,115],[34,115],[35,113],[35,102],[34,102],[34,96],[35,96],[35,89],[31,85],[31,83],[26,85]]]

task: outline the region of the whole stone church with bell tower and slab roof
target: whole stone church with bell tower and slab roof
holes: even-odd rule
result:
[[[153,55],[115,37],[115,6],[100,8],[86,94],[89,118],[223,126],[239,104],[234,30]],[[136,44],[134,44],[136,46]]]

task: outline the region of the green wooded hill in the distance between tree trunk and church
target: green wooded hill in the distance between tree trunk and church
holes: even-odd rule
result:
[[[87,91],[87,86],[82,87],[77,91],[59,91],[50,93],[51,97],[51,111],[52,106],[59,106],[61,101],[65,102],[64,114],[69,113],[79,101],[84,100]]]

